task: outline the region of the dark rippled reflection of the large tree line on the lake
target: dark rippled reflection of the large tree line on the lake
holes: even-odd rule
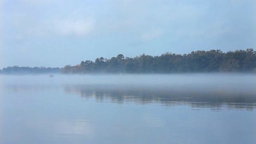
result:
[[[247,90],[170,88],[131,85],[72,85],[64,86],[66,94],[80,95],[83,100],[96,102],[159,104],[165,108],[187,105],[191,110],[210,108],[219,110],[253,110],[256,108],[256,93]]]

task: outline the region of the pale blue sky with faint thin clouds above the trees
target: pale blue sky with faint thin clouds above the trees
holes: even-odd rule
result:
[[[1,0],[0,69],[256,50],[256,0]]]

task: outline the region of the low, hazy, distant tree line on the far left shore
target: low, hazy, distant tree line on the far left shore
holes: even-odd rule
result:
[[[9,66],[7,68],[3,68],[0,70],[2,74],[53,74],[53,73],[60,73],[62,68],[46,68],[45,66],[41,67],[19,67],[19,66]]]

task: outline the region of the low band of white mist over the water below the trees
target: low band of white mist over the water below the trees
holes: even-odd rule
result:
[[[136,85],[136,86],[204,86],[214,88],[238,88],[241,90],[256,84],[256,75],[252,73],[202,73],[202,74],[85,74],[65,75],[3,75],[1,83],[11,84],[43,84],[43,85],[72,85],[72,84],[99,84],[99,85]],[[245,86],[246,85],[246,86]],[[210,87],[208,87],[210,86]],[[199,87],[198,87],[199,88]],[[234,90],[234,89],[233,89]]]

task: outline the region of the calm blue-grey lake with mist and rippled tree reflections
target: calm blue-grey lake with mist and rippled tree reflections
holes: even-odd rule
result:
[[[256,74],[0,75],[1,144],[255,144]]]

